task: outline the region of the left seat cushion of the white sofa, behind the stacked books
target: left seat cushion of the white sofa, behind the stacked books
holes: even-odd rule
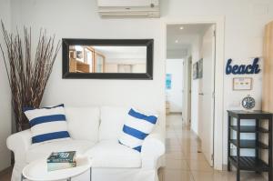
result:
[[[66,139],[56,142],[41,144],[39,146],[32,145],[26,152],[26,162],[30,163],[35,159],[49,156],[52,152],[60,151],[76,151],[76,155],[83,155],[86,150],[90,149],[96,143],[86,140]]]

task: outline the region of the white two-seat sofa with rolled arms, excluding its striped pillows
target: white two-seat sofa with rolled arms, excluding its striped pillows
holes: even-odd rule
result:
[[[31,144],[31,132],[25,130],[7,138],[7,147],[15,154],[12,180],[20,179],[25,165],[53,151],[76,150],[92,158],[93,181],[157,181],[157,169],[165,153],[164,132],[156,126],[144,141],[141,153],[118,144],[127,107],[66,107],[71,139],[42,145]],[[157,120],[157,124],[160,120]],[[87,181],[89,173],[72,180]]]

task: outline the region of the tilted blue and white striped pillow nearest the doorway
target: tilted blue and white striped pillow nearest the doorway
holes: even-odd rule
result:
[[[118,138],[119,143],[141,152],[144,139],[152,132],[156,123],[157,116],[147,116],[131,108]]]

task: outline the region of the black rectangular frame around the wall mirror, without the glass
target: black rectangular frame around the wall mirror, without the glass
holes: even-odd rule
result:
[[[63,38],[63,78],[65,79],[153,79],[153,39],[70,39]],[[146,73],[70,73],[69,45],[147,46]]]

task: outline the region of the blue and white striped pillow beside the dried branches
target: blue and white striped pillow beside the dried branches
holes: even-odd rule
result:
[[[43,143],[69,138],[64,105],[24,108],[32,133],[32,143]]]

